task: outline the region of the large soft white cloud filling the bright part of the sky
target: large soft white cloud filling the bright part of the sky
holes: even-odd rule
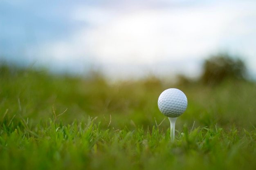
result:
[[[198,73],[199,59],[218,49],[235,47],[241,53],[256,54],[252,45],[256,44],[256,24],[252,24],[256,17],[255,3],[250,3],[216,2],[130,11],[79,6],[72,18],[85,22],[86,26],[65,40],[44,44],[41,50],[53,60],[67,64],[76,61],[116,64],[117,67],[110,65],[111,73],[118,65],[149,64],[153,68],[162,62],[178,63],[181,65],[176,70],[187,67],[187,72]],[[238,45],[239,37],[243,46]],[[194,63],[182,65],[186,60]],[[161,70],[161,66],[157,65],[155,70]]]

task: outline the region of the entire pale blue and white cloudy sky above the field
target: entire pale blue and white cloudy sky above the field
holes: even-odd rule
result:
[[[0,0],[0,62],[110,78],[198,77],[211,55],[256,78],[254,0]]]

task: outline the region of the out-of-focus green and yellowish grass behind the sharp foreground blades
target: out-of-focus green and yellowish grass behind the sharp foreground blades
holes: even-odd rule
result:
[[[189,127],[238,128],[256,127],[256,85],[253,82],[226,80],[218,86],[199,83],[172,84],[154,76],[134,81],[107,82],[96,72],[84,77],[51,75],[47,71],[0,68],[0,121],[3,115],[23,117],[35,125],[40,119],[58,117],[64,124],[74,119],[98,117],[108,126],[132,129],[135,126],[152,128],[163,119],[157,108],[159,94],[166,88],[179,88],[188,98],[188,108],[177,120],[177,128]],[[168,120],[162,124],[167,128]]]

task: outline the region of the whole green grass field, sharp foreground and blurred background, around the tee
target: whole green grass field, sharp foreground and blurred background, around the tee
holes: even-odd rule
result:
[[[157,108],[159,94],[171,87],[188,98],[174,142]],[[254,170],[255,96],[252,82],[178,86],[149,76],[108,83],[95,73],[81,78],[2,66],[0,167]]]

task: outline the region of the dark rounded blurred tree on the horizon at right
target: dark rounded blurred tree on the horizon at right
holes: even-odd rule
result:
[[[204,61],[201,81],[204,84],[215,85],[225,79],[245,79],[246,72],[242,60],[220,53]]]

